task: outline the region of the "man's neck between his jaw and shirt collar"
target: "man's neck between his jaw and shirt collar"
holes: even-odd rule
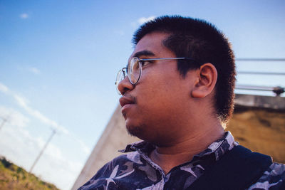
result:
[[[204,129],[204,130],[203,130]],[[198,131],[186,133],[179,141],[157,146],[150,154],[150,159],[158,164],[165,174],[170,169],[185,162],[190,162],[195,154],[207,149],[209,144],[221,138],[224,134],[222,125],[199,127]]]

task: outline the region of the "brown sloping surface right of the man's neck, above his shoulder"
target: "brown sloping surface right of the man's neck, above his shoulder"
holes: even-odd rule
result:
[[[235,107],[227,125],[236,141],[254,152],[285,163],[285,112],[261,108]]]

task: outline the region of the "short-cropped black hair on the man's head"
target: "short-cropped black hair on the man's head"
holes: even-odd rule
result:
[[[191,64],[177,61],[177,70],[185,76],[190,69],[199,68],[204,63],[212,63],[218,73],[215,86],[215,108],[217,117],[227,122],[234,109],[235,64],[231,44],[211,23],[182,16],[160,16],[144,23],[133,36],[136,45],[147,33],[169,33],[163,45],[177,57],[195,59]]]

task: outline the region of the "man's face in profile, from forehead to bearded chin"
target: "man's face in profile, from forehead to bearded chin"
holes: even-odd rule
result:
[[[158,32],[147,34],[135,46],[130,59],[175,58],[175,53],[162,45],[167,36]],[[118,89],[123,94],[120,104],[128,132],[156,143],[177,137],[180,129],[175,124],[182,122],[180,114],[190,98],[189,81],[178,72],[176,60],[145,63],[135,86],[128,78],[122,80]]]

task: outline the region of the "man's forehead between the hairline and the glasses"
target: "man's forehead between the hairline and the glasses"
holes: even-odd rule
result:
[[[163,41],[167,38],[167,36],[169,36],[169,34],[162,32],[148,33],[140,39],[130,58],[140,56],[163,58],[163,56],[167,55],[168,57],[173,57],[174,53],[163,46]]]

